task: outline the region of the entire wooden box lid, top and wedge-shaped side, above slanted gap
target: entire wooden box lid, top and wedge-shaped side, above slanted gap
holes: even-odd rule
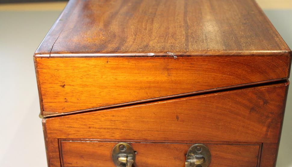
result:
[[[34,55],[43,115],[284,80],[254,0],[71,0]]]

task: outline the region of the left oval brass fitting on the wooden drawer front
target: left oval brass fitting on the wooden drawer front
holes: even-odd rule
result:
[[[128,143],[119,143],[113,147],[113,163],[117,167],[132,167],[135,161],[135,151]]]

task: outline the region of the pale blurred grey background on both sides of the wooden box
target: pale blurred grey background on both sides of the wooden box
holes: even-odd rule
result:
[[[258,0],[292,48],[292,1]],[[33,53],[64,2],[0,5],[0,166],[46,166]],[[290,75],[291,78],[291,75]],[[292,88],[277,167],[292,167]]]

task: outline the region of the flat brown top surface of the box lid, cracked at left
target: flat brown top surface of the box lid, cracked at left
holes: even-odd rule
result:
[[[254,0],[71,0],[36,55],[271,51],[290,49]]]

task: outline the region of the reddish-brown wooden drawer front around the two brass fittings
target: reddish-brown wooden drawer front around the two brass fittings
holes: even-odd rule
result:
[[[127,142],[136,151],[136,167],[184,167],[192,143]],[[60,141],[64,167],[114,167],[112,149],[116,141]],[[210,150],[208,167],[256,167],[260,144],[204,144]]]

